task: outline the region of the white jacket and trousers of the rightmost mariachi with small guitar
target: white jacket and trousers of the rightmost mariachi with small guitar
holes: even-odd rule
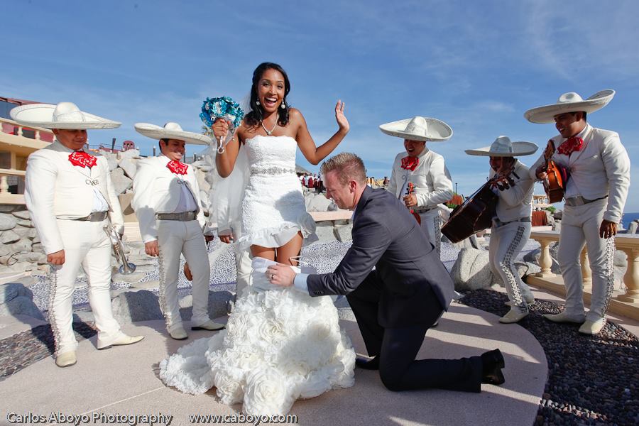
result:
[[[555,163],[569,169],[557,261],[566,285],[564,311],[583,315],[579,254],[586,244],[592,271],[592,297],[586,319],[597,321],[605,317],[613,292],[615,251],[614,238],[601,238],[599,226],[603,219],[621,222],[630,186],[630,159],[616,132],[586,124],[577,136],[584,140],[580,151],[552,155]],[[559,148],[565,138],[557,135],[552,141]],[[537,167],[543,164],[542,156],[530,168],[530,175],[534,176]]]

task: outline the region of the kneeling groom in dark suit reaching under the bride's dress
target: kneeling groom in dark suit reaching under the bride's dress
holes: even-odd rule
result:
[[[386,190],[366,186],[357,155],[335,155],[322,164],[322,175],[326,196],[354,210],[353,244],[333,273],[295,275],[278,264],[266,272],[271,283],[295,285],[312,296],[346,295],[373,356],[356,365],[378,369],[391,391],[479,392],[481,383],[503,383],[498,349],[470,358],[415,360],[425,333],[454,295],[446,268],[405,205]]]

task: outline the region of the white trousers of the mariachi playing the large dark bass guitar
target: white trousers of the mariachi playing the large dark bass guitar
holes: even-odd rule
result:
[[[530,238],[530,227],[530,222],[510,222],[502,226],[493,224],[488,247],[493,275],[501,278],[506,285],[508,299],[521,310],[528,309],[524,296],[530,295],[530,288],[521,280],[515,268],[515,258]]]

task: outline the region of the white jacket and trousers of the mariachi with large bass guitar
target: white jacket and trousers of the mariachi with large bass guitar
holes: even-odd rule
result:
[[[503,191],[494,190],[498,201],[488,253],[491,271],[506,285],[508,299],[513,307],[526,310],[525,296],[532,298],[532,293],[519,276],[515,258],[530,238],[532,191],[535,181],[530,178],[528,167],[519,160],[515,160],[513,171],[510,177],[515,185]],[[491,168],[489,173],[492,178],[495,170]]]

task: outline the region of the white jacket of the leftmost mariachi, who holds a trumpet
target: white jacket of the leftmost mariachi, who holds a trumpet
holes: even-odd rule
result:
[[[124,231],[122,210],[106,158],[90,153],[97,157],[97,164],[83,168],[69,161],[72,152],[55,141],[31,153],[27,160],[24,200],[46,254],[65,248],[56,218],[77,219],[91,213],[94,186],[111,207],[111,222],[118,231]]]

